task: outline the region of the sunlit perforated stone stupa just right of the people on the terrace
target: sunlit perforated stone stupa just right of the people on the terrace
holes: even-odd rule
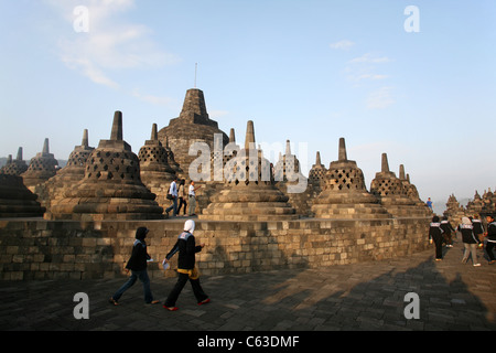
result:
[[[270,162],[255,146],[254,122],[248,121],[245,148],[225,167],[225,188],[211,197],[198,215],[214,221],[294,220],[295,210],[273,184]]]

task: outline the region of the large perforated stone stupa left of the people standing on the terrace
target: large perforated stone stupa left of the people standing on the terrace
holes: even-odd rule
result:
[[[122,114],[116,111],[110,140],[100,140],[89,156],[85,176],[55,201],[53,220],[104,221],[162,218],[155,194],[140,179],[140,162],[122,139]]]

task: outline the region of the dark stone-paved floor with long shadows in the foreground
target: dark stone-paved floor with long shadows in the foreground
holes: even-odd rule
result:
[[[190,285],[179,311],[144,304],[137,282],[120,299],[108,298],[126,279],[0,281],[0,330],[25,331],[436,331],[496,330],[496,265],[462,265],[463,245],[377,263],[203,277],[212,302],[197,306]],[[483,250],[478,250],[483,256]],[[164,300],[174,278],[152,279]],[[89,298],[89,319],[76,320],[74,296]],[[406,319],[405,297],[420,298],[420,319]]]

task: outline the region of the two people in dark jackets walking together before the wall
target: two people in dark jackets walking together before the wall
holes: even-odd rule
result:
[[[184,231],[177,237],[176,243],[165,256],[163,264],[169,264],[169,260],[179,253],[177,257],[177,282],[169,293],[163,308],[169,311],[176,311],[179,308],[175,306],[177,298],[190,280],[193,295],[196,298],[198,306],[206,304],[211,301],[208,296],[203,291],[200,284],[200,272],[196,267],[195,254],[201,252],[205,244],[196,245],[195,237],[193,235],[195,231],[195,222],[187,220],[184,224]],[[143,285],[144,302],[149,304],[157,304],[160,301],[153,299],[153,295],[150,289],[150,278],[148,276],[147,267],[148,261],[151,260],[150,255],[147,252],[147,243],[144,238],[149,229],[147,227],[139,227],[136,231],[136,240],[132,246],[131,257],[126,265],[126,271],[131,271],[129,279],[109,298],[109,302],[114,306],[119,304],[119,299],[122,295],[131,288],[139,279]]]

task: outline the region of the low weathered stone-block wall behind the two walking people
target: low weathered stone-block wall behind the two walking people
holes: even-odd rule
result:
[[[153,222],[0,222],[0,279],[115,278],[123,276],[139,226],[150,229],[148,252],[163,258],[184,220]],[[195,237],[203,275],[247,274],[284,268],[323,268],[390,259],[429,247],[424,218],[197,221]],[[176,267],[177,257],[171,260]],[[159,263],[160,264],[160,263]],[[158,263],[150,277],[175,276]]]

